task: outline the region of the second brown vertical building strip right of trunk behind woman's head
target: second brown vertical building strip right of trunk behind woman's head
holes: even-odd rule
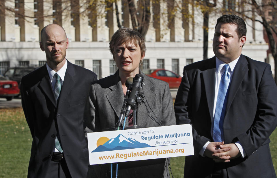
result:
[[[167,0],[167,20],[170,30],[170,41],[175,41],[175,1]]]

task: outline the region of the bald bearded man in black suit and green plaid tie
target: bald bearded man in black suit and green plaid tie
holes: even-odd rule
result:
[[[33,143],[28,177],[86,177],[89,159],[83,112],[95,73],[65,59],[64,29],[49,24],[40,48],[47,63],[24,76],[22,107]]]

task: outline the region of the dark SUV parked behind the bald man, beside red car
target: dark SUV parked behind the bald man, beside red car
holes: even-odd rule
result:
[[[33,70],[39,68],[38,66],[17,66],[17,67],[10,67],[8,70],[3,74],[7,79],[17,81],[18,87],[20,88],[21,78],[26,74],[29,74]]]

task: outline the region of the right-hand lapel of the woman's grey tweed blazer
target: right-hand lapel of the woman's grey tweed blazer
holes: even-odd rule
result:
[[[154,104],[154,101],[155,101],[155,98],[156,98],[156,93],[154,91],[151,90],[152,87],[155,87],[154,84],[149,80],[149,76],[146,76],[144,73],[141,72],[141,74],[143,74],[143,83],[145,85],[143,85],[143,93],[145,95],[145,98],[144,98],[144,101],[145,101],[145,104],[149,110],[149,112],[151,113],[151,115],[153,117],[154,114],[152,113],[151,109],[154,109],[153,108],[153,104]],[[141,92],[141,90],[140,90]],[[147,100],[147,102],[146,102]],[[148,106],[148,104],[149,106]],[[150,109],[150,108],[151,109]],[[138,106],[138,111],[137,111],[137,125],[140,126],[140,127],[146,127],[147,126],[147,119],[149,119],[148,117],[148,114],[147,114],[147,109],[145,107],[144,104],[141,104]],[[160,119],[160,118],[158,118]]]

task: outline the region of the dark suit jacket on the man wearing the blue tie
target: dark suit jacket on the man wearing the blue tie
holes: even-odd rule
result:
[[[211,127],[215,91],[215,57],[184,67],[175,100],[177,124],[191,123],[194,156],[187,156],[184,177],[205,177],[214,166],[231,177],[276,177],[269,151],[269,135],[277,125],[277,87],[269,64],[241,55],[230,83],[224,117],[224,142],[240,141],[245,158],[214,164],[199,151],[213,142]]]

